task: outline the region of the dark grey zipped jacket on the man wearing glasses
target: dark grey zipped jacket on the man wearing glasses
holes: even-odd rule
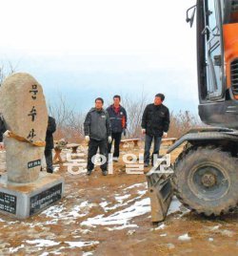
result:
[[[90,109],[85,118],[84,131],[85,136],[89,136],[90,139],[108,139],[111,135],[109,113],[104,109]]]

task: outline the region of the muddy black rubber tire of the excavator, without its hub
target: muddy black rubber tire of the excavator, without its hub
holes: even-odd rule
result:
[[[188,186],[188,173],[193,163],[198,160],[210,160],[226,167],[230,180],[228,194],[216,203],[209,203],[199,199],[192,193]],[[174,163],[172,184],[178,200],[188,209],[206,216],[220,216],[232,211],[238,204],[238,160],[232,158],[228,152],[212,145],[206,147],[188,147]],[[212,206],[210,205],[212,204]],[[215,204],[215,205],[214,205]]]

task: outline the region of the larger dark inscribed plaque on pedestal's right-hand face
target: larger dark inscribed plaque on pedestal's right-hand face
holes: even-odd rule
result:
[[[30,198],[30,215],[57,202],[62,197],[62,183],[50,187],[49,189]]]

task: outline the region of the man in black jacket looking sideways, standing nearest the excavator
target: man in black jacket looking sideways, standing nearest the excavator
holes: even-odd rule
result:
[[[153,155],[159,156],[160,143],[163,136],[167,137],[169,131],[169,109],[163,105],[165,96],[157,94],[154,103],[149,104],[142,117],[142,133],[146,134],[144,166],[149,166],[149,150],[152,140],[154,142],[151,163],[153,165]]]

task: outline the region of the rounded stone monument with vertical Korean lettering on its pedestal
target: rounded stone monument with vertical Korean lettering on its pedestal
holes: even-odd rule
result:
[[[0,212],[25,219],[60,200],[64,179],[41,172],[48,111],[41,85],[28,74],[10,75],[0,87],[7,174],[0,178]]]

